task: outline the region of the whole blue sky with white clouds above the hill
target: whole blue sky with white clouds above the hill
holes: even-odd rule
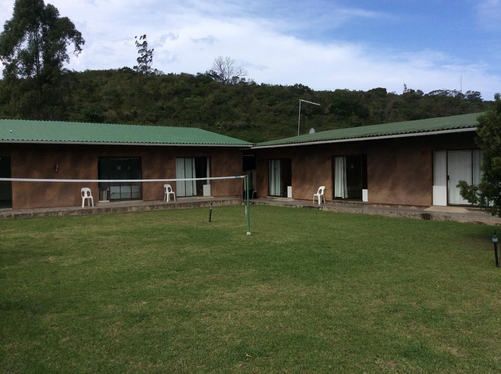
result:
[[[75,70],[132,67],[147,34],[153,65],[206,71],[230,56],[256,82],[317,90],[403,84],[501,91],[501,0],[231,1],[46,0],[87,43]],[[14,0],[0,0],[0,22]]]

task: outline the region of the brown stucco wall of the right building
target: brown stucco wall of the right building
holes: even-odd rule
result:
[[[326,145],[256,149],[257,189],[267,196],[268,162],[292,159],[292,196],[313,199],[321,185],[333,199],[333,156],[367,154],[370,203],[429,206],[432,204],[433,150],[476,148],[474,133],[394,138]]]

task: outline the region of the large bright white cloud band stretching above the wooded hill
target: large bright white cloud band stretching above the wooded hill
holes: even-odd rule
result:
[[[0,0],[0,19],[11,17],[12,3]],[[166,73],[205,72],[221,55],[241,63],[248,78],[258,83],[302,83],[318,90],[385,87],[401,92],[404,82],[424,92],[457,89],[461,74],[463,91],[480,91],[486,99],[501,87],[501,78],[480,62],[456,61],[433,50],[376,50],[343,41],[303,40],[288,32],[294,25],[287,19],[258,17],[231,1],[51,3],[75,22],[87,41],[82,54],[72,58],[70,67],[76,70],[132,67],[137,57],[134,36],[147,34],[155,48],[153,65]],[[338,9],[336,14],[340,24],[346,18],[386,17],[358,9]]]

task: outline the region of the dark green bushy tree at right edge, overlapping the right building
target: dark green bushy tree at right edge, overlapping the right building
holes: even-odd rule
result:
[[[495,108],[478,117],[477,145],[483,151],[482,178],[478,185],[460,181],[461,195],[472,204],[501,217],[501,95],[494,95]]]

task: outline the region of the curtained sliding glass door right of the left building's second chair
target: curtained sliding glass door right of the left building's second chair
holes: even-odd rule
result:
[[[176,178],[209,178],[209,157],[176,157]],[[202,196],[210,180],[176,181],[176,196]]]

